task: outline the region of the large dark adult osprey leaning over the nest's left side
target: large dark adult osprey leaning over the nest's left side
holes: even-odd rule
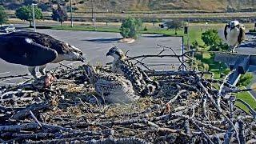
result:
[[[82,51],[50,35],[36,32],[14,32],[0,36],[0,58],[6,62],[29,66],[34,78],[36,68],[46,75],[46,64],[66,61],[84,61]]]

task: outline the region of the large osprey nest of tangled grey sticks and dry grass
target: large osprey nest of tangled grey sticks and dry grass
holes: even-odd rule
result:
[[[97,67],[110,73],[107,67]],[[150,71],[160,90],[129,103],[107,103],[84,66],[0,89],[1,143],[255,143],[256,113],[237,87],[197,71]],[[206,76],[207,75],[207,76]],[[250,112],[234,106],[242,102]]]

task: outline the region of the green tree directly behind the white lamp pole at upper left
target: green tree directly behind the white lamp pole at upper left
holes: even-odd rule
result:
[[[30,26],[32,26],[32,21],[33,21],[33,11],[32,11],[32,6],[22,6],[15,12],[16,17],[30,22]],[[34,18],[35,19],[42,19],[42,10],[38,9],[37,6],[34,6]]]

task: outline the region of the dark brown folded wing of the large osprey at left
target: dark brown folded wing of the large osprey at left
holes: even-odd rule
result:
[[[57,58],[57,52],[23,37],[0,37],[0,58],[25,66],[42,66]]]

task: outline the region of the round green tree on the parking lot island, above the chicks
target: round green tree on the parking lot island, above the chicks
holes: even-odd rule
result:
[[[126,18],[120,27],[120,34],[123,38],[138,38],[142,29],[142,21],[136,18]]]

